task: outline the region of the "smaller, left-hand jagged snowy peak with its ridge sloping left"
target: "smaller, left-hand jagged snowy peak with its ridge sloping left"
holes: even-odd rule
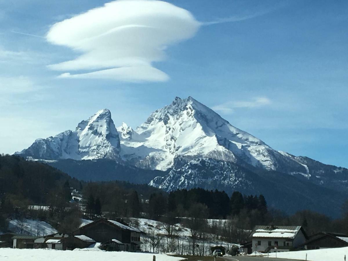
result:
[[[35,159],[118,159],[120,139],[109,110],[98,111],[81,121],[76,130],[37,139],[17,154]]]

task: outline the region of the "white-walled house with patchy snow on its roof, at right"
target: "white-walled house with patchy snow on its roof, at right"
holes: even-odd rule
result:
[[[290,251],[308,239],[301,226],[255,226],[250,235],[252,251],[264,253]]]

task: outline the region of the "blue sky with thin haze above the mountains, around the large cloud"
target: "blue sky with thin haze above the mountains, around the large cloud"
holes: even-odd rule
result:
[[[84,53],[69,37],[90,33],[85,23],[62,25],[46,39],[55,23],[107,2],[0,2],[0,152],[74,129],[103,108],[117,126],[135,128],[175,96],[192,96],[274,149],[348,167],[347,1],[170,1],[192,15],[185,26],[171,17],[160,23],[168,27],[164,37],[150,34],[127,46],[151,53],[153,42],[168,38],[159,59],[144,54],[134,62],[151,64],[155,80],[133,82],[133,72],[126,80],[58,77],[112,67],[56,68]]]

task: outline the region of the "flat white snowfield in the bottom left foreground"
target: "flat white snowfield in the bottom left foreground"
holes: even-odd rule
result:
[[[164,254],[155,254],[156,261],[179,261],[176,258]],[[106,252],[106,251],[61,251],[49,249],[13,249],[0,248],[1,261],[64,261],[64,260],[127,260],[127,261],[149,261],[153,254],[130,253],[130,252]]]

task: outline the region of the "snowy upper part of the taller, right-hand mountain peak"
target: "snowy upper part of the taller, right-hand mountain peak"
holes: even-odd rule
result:
[[[268,170],[285,167],[287,172],[307,174],[306,166],[232,126],[192,97],[176,97],[168,106],[151,113],[135,131],[125,124],[118,130],[125,137],[121,140],[122,157],[137,159],[137,166],[143,168],[164,171],[173,166],[175,157],[185,156],[246,163]]]

